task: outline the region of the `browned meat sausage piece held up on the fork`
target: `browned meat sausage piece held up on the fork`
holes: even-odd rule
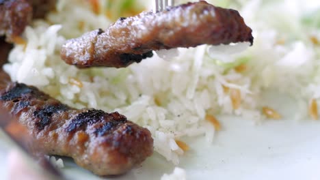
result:
[[[68,40],[61,57],[77,67],[126,67],[152,57],[152,50],[231,42],[253,42],[239,12],[200,1],[120,18],[105,31]]]

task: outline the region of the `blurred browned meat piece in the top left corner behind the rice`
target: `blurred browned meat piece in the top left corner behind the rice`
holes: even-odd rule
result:
[[[57,0],[0,0],[0,36],[14,42],[32,18],[43,18]]]

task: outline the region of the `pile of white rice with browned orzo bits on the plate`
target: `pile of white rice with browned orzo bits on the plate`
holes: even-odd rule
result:
[[[155,151],[174,164],[189,149],[181,138],[204,136],[213,141],[221,128],[216,115],[254,121],[268,117],[259,100],[268,89],[296,97],[301,108],[297,118],[309,112],[317,118],[320,11],[308,9],[306,14],[308,3],[297,1],[295,7],[293,1],[209,1],[240,10],[253,28],[254,46],[243,52],[242,46],[179,48],[158,52],[168,61],[155,55],[128,68],[79,70],[59,58],[64,41],[113,21],[106,16],[109,1],[94,8],[88,2],[96,1],[60,0],[57,12],[25,30],[26,42],[16,44],[4,66],[12,80],[35,85],[76,108],[123,113],[147,127],[155,138]]]

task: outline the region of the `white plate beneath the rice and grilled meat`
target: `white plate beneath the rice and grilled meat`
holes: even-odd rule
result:
[[[267,98],[268,99],[268,98]],[[286,117],[295,114],[295,101],[271,102]],[[320,121],[270,120],[254,125],[239,117],[219,117],[223,130],[213,144],[204,138],[190,138],[191,150],[178,165],[187,170],[188,179],[320,179]],[[1,143],[1,146],[7,146]],[[2,152],[2,153],[1,153]],[[64,173],[70,179],[96,177],[64,160]],[[6,175],[5,153],[0,151],[0,174]],[[160,179],[174,166],[155,153],[142,166],[126,175],[107,179]]]

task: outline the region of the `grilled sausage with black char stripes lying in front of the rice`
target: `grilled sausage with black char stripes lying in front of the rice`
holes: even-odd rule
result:
[[[72,157],[97,175],[118,175],[152,154],[150,132],[118,112],[70,108],[36,87],[11,82],[0,106],[27,127],[45,153]]]

